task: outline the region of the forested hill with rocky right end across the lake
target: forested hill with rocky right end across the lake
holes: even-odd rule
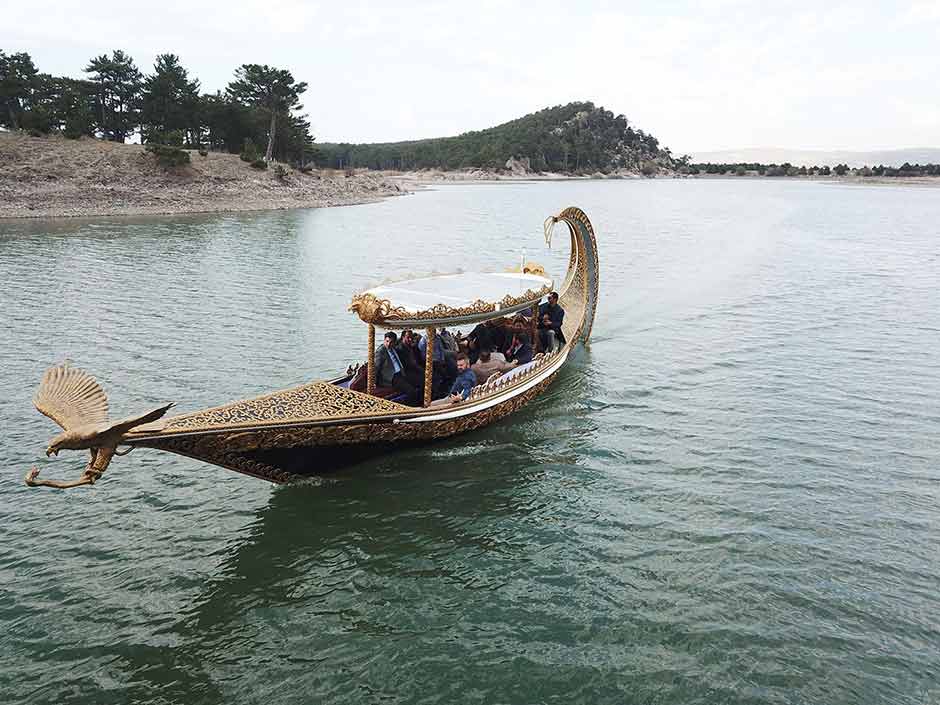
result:
[[[668,149],[623,115],[593,103],[568,103],[477,132],[411,142],[324,143],[320,161],[332,168],[506,169],[559,173],[651,173],[676,166]]]

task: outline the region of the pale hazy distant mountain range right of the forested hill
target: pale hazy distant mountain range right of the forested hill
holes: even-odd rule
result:
[[[783,164],[794,166],[834,166],[846,164],[850,167],[894,166],[908,164],[940,164],[940,148],[911,147],[908,149],[883,149],[870,152],[813,149],[781,149],[775,147],[751,147],[726,149],[716,152],[693,152],[695,164]]]

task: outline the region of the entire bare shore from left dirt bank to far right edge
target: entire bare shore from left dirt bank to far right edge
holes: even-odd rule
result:
[[[645,179],[761,179],[820,184],[940,187],[940,177],[759,176],[756,173],[644,176],[457,171],[251,168],[238,155],[187,150],[190,164],[165,169],[141,145],[0,133],[0,222],[64,218],[172,216],[332,208],[377,203],[439,184],[505,184]],[[283,169],[283,171],[282,171]]]

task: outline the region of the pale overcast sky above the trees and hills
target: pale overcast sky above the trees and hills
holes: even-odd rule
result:
[[[78,76],[178,54],[204,90],[287,68],[319,141],[451,135],[592,100],[676,153],[940,146],[940,0],[0,4],[0,49]]]

